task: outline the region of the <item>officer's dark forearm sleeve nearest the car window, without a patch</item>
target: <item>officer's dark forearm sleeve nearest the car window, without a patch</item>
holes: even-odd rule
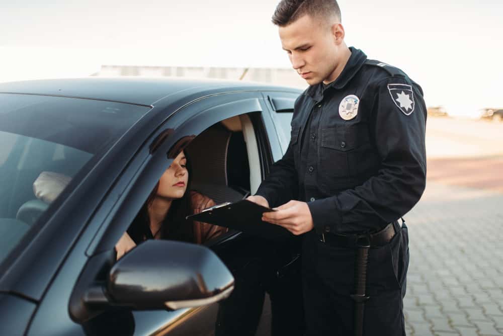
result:
[[[290,141],[286,153],[271,166],[270,174],[261,183],[256,195],[264,197],[270,207],[277,207],[297,199],[297,194],[298,178]]]

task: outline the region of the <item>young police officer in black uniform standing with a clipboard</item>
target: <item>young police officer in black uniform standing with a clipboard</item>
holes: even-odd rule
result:
[[[345,44],[335,0],[282,0],[273,16],[310,85],[258,192],[263,220],[302,241],[309,335],[404,335],[407,228],[426,183],[423,91]],[[363,329],[363,331],[362,331]]]

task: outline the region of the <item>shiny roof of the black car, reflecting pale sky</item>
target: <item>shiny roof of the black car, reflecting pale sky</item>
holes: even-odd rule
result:
[[[0,93],[49,95],[115,101],[153,106],[167,96],[180,94],[232,91],[290,91],[298,89],[272,86],[257,82],[223,79],[190,79],[180,77],[83,77],[68,79],[39,79],[0,83]]]

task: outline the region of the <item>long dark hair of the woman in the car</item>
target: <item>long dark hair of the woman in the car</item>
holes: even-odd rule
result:
[[[189,175],[187,189],[185,190],[185,194],[182,198],[172,201],[170,210],[167,212],[166,217],[164,217],[159,233],[157,233],[156,236],[161,239],[194,242],[193,221],[185,219],[185,217],[190,215],[192,211],[192,204],[189,195],[191,190],[192,165],[187,149],[184,149],[184,154],[187,159],[187,173]],[[159,182],[157,182],[146,202],[143,204],[127,230],[129,236],[136,244],[139,244],[145,239],[153,238],[152,232],[150,231],[148,207],[156,197],[158,188]]]

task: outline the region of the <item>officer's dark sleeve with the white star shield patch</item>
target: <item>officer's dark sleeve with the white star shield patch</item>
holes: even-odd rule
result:
[[[409,92],[391,90],[406,86],[411,86],[414,102],[408,115],[400,106],[410,105],[405,97]],[[400,94],[401,103],[393,101],[392,93]],[[424,192],[427,114],[421,88],[407,78],[388,77],[377,84],[374,104],[373,135],[381,167],[354,189],[308,203],[318,233],[377,229],[407,213]]]

